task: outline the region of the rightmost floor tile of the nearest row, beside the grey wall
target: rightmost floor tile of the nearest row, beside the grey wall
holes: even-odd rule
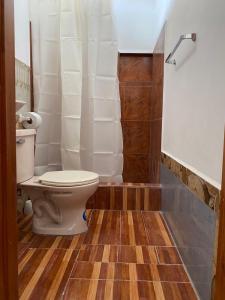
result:
[[[165,300],[197,300],[195,292],[189,283],[162,282]]]

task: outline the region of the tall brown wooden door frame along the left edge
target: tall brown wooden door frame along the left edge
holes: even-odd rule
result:
[[[0,299],[18,299],[14,3],[0,0]]]

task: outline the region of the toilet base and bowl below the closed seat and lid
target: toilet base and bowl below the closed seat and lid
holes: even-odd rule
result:
[[[23,183],[33,208],[32,230],[43,235],[76,235],[88,230],[85,209],[98,181],[81,186],[45,186],[35,179]]]

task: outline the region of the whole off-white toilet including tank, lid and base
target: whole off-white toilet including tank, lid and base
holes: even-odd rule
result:
[[[99,185],[99,175],[66,170],[34,176],[34,129],[16,131],[17,183],[29,195],[32,230],[45,235],[74,235],[87,231],[85,207]]]

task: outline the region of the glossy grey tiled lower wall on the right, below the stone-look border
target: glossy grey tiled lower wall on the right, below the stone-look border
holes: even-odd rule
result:
[[[161,168],[162,212],[201,300],[211,299],[216,213],[167,167]]]

